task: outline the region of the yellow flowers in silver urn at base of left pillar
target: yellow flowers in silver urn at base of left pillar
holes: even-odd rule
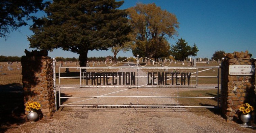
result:
[[[38,115],[35,112],[36,110],[39,110],[41,108],[41,105],[38,102],[27,102],[26,103],[26,111],[29,111],[28,113],[28,119],[32,122],[34,122],[37,118]]]

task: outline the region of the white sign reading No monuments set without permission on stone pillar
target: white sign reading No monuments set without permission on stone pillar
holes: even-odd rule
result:
[[[229,75],[254,75],[254,65],[230,65],[228,70]]]

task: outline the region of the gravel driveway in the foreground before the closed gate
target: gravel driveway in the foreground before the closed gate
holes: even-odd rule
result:
[[[69,85],[67,85],[69,86]],[[204,88],[207,89],[207,88]],[[190,89],[186,89],[190,90]],[[176,90],[175,90],[176,91]],[[172,94],[176,94],[173,90]],[[182,91],[182,90],[181,90]],[[184,91],[184,90],[183,90]],[[132,92],[132,91],[131,91]],[[142,91],[143,92],[143,91]],[[81,94],[79,89],[68,95]],[[66,94],[65,93],[65,94]],[[71,94],[72,93],[72,94]],[[108,93],[108,92],[102,92]],[[121,93],[121,92],[120,92]],[[96,99],[96,98],[95,98]],[[95,100],[95,99],[92,99]],[[89,101],[89,100],[88,100]],[[105,101],[108,102],[108,101]],[[150,101],[149,101],[150,102]],[[171,100],[171,104],[177,104]],[[200,109],[199,109],[200,111]],[[211,113],[209,111],[209,113]],[[227,123],[222,117],[195,115],[188,108],[152,107],[61,107],[48,120],[24,123],[6,132],[256,132]]]

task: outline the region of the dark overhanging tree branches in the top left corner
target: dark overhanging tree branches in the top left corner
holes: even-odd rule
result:
[[[49,2],[43,0],[1,0],[0,1],[0,38],[7,37],[11,31],[26,26],[28,19],[35,19],[30,13],[43,10]]]

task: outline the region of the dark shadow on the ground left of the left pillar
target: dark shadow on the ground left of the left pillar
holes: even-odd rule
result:
[[[0,85],[0,132],[25,122],[23,96],[22,86]]]

